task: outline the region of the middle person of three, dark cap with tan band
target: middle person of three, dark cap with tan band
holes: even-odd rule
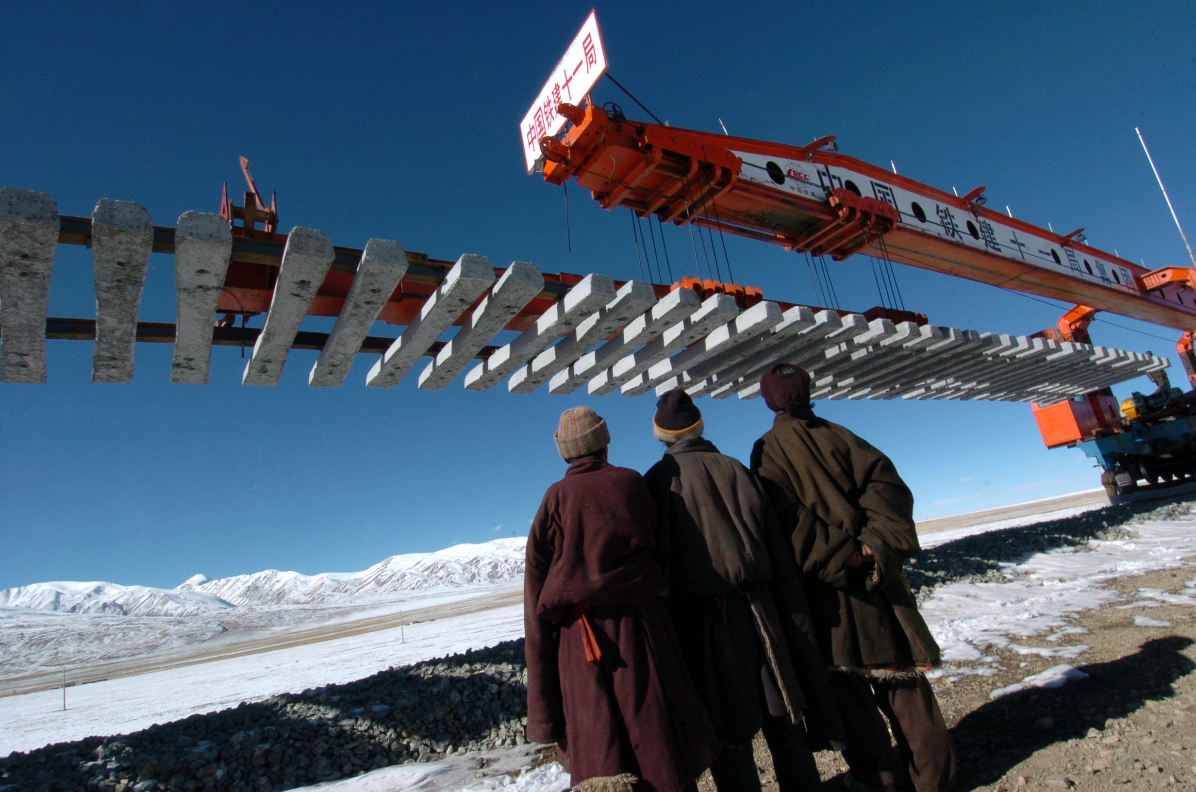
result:
[[[645,481],[682,653],[726,744],[710,774],[719,792],[758,792],[751,742],[763,727],[781,792],[806,792],[820,781],[803,715],[822,737],[843,729],[801,577],[761,483],[703,428],[685,391],[661,396],[652,429],[667,449]]]

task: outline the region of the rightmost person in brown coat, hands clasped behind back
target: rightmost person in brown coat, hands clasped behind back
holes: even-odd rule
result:
[[[917,792],[948,792],[954,750],[923,672],[939,664],[939,646],[902,574],[920,550],[914,495],[889,457],[814,415],[808,373],[774,365],[759,390],[775,418],[751,469],[805,573],[848,730],[848,786],[892,787],[891,727]]]

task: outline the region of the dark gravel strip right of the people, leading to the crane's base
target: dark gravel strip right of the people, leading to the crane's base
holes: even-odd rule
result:
[[[948,583],[1005,583],[1008,578],[1001,573],[1002,563],[1058,547],[1084,552],[1090,549],[1091,540],[1133,538],[1130,525],[1188,519],[1194,506],[1196,498],[1191,496],[1163,506],[1159,501],[1122,504],[1048,523],[968,536],[922,550],[916,559],[905,562],[905,579],[919,602],[925,602],[935,589]]]

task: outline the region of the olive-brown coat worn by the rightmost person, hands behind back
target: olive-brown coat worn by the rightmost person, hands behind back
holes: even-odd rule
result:
[[[910,669],[939,663],[901,567],[919,553],[914,495],[889,457],[805,410],[779,413],[752,449],[781,524],[806,574],[826,663]],[[867,544],[872,565],[849,567]]]

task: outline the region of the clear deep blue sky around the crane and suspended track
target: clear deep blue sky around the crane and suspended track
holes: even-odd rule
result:
[[[138,201],[173,225],[216,211],[222,182],[239,191],[244,154],[277,190],[283,229],[630,278],[626,213],[574,191],[567,251],[562,193],[524,173],[518,142],[519,118],[591,7],[6,4],[0,184],[49,193],[63,214]],[[1186,263],[1134,136],[1141,127],[1196,232],[1196,14],[1183,4],[597,8],[612,74],[676,126],[713,132],[722,118],[732,134],[795,144],[836,134],[843,153],[893,160],[942,189],[986,184],[991,206],[1086,226],[1092,244],[1148,267]],[[609,83],[596,98],[641,115]],[[682,233],[670,242],[687,274]],[[736,280],[817,301],[800,257],[727,245]],[[172,266],[153,257],[142,321],[173,321]],[[1025,334],[1067,307],[897,269],[907,305],[936,324]],[[879,303],[867,260],[834,278],[844,307]],[[94,315],[86,250],[60,246],[50,315]],[[1178,333],[1107,318],[1116,324],[1092,328],[1097,343],[1174,359]],[[362,384],[365,357],[328,391],[306,385],[309,352],[292,353],[279,386],[254,389],[239,384],[236,348],[214,351],[210,384],[172,385],[169,346],[136,354],[133,384],[96,385],[91,345],[51,341],[48,385],[0,388],[0,587],[359,569],[524,534],[563,470],[557,415],[576,403],[606,416],[614,462],[645,470],[660,453],[651,396],[478,395],[459,383],[425,394],[414,376],[376,391]],[[771,421],[758,400],[701,407],[709,437],[740,458]],[[1043,449],[1025,404],[818,409],[896,461],[921,518],[1098,485],[1079,451]]]

